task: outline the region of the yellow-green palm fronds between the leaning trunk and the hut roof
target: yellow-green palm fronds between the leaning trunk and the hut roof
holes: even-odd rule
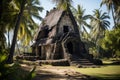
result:
[[[33,32],[38,27],[33,18],[40,21],[42,17],[40,17],[39,12],[43,10],[38,0],[29,0],[26,5],[18,32],[18,39],[21,40],[25,46],[29,44]]]

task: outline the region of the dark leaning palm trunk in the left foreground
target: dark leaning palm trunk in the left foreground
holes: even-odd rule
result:
[[[24,11],[25,3],[26,3],[26,0],[23,0],[22,4],[21,4],[21,7],[20,7],[20,13],[18,14],[18,18],[17,18],[17,21],[15,23],[13,40],[12,40],[12,45],[11,45],[11,48],[10,48],[10,53],[9,53],[9,56],[8,56],[7,63],[13,63],[13,55],[14,55],[14,51],[15,51],[15,44],[16,44],[16,40],[17,40],[17,33],[18,33],[19,25],[20,25],[20,20],[21,20],[23,11]]]

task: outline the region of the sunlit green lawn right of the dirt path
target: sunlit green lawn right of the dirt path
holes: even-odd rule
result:
[[[76,68],[76,71],[96,77],[98,80],[120,80],[120,65],[108,65],[110,61],[104,61],[105,64],[100,68]]]

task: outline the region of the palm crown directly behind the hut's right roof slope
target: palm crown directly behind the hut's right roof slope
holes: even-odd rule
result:
[[[79,32],[81,36],[83,37],[83,33],[88,35],[88,32],[85,27],[90,29],[90,25],[87,24],[86,20],[90,18],[90,15],[85,15],[85,9],[81,7],[80,5],[77,6],[77,9],[74,7],[71,8],[73,15],[75,16],[76,21],[78,22],[79,25]]]

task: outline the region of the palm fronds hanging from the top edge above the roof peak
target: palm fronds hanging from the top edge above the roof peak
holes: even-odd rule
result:
[[[52,1],[56,3],[59,9],[63,10],[69,10],[72,4],[72,0],[52,0]]]

